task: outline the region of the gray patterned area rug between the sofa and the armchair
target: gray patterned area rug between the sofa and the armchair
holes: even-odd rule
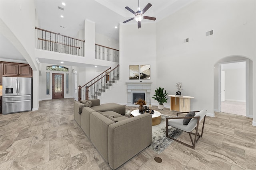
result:
[[[174,140],[166,137],[166,117],[162,115],[162,120],[159,125],[152,126],[152,144],[149,146],[154,152],[161,154]],[[168,135],[175,139],[182,134],[182,131],[174,127],[168,127]]]

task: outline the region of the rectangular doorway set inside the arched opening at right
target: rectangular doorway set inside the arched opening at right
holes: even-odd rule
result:
[[[246,61],[220,64],[220,111],[246,116]]]

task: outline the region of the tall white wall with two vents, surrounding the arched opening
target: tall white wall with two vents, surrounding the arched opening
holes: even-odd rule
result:
[[[214,115],[214,64],[234,55],[255,61],[255,36],[255,1],[195,1],[156,25],[157,85],[174,94],[182,82],[182,94],[195,97],[191,109]]]

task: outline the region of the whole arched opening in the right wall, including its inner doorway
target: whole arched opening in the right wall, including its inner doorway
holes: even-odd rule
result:
[[[224,78],[225,72],[228,78]],[[253,117],[252,60],[241,56],[220,59],[214,64],[214,89],[214,111]]]

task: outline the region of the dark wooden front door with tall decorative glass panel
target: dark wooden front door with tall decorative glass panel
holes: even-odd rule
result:
[[[64,74],[52,73],[52,99],[64,98]]]

